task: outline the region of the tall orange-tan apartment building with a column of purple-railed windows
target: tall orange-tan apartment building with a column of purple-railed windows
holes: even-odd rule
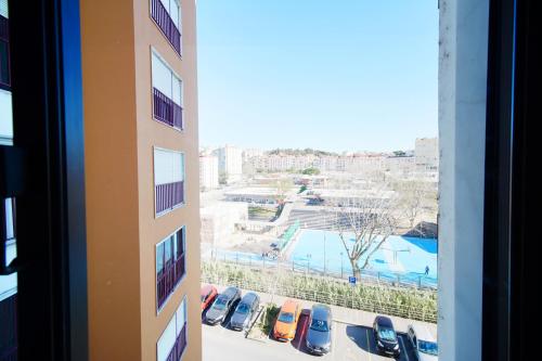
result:
[[[201,360],[195,0],[81,0],[90,360]]]

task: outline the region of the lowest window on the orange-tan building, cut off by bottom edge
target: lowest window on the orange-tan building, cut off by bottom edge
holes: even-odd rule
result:
[[[181,360],[186,349],[186,296],[156,343],[157,361]]]

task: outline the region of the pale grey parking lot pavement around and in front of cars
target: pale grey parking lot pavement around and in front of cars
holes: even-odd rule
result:
[[[281,304],[279,301],[279,304]],[[304,308],[309,305],[302,302]],[[369,312],[350,311],[349,320],[334,320],[332,325],[332,351],[321,357],[322,360],[335,361],[377,361],[392,360],[376,352],[376,341],[373,336],[370,320],[374,315]],[[339,313],[339,312],[335,312]],[[340,314],[339,314],[340,315]],[[344,315],[344,314],[343,314]],[[344,317],[341,319],[345,319]],[[404,320],[408,321],[408,320]],[[401,322],[398,330],[401,356],[399,360],[415,361],[412,346],[406,336],[401,333]],[[255,340],[245,338],[245,332],[229,330],[229,318],[216,326],[203,324],[203,356],[205,361],[292,361],[292,360],[314,360],[319,357],[308,353],[305,347],[305,337],[308,327],[308,315],[301,314],[296,338],[292,343],[279,343],[272,338],[266,340]]]

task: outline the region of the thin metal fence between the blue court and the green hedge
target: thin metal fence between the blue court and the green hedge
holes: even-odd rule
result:
[[[236,266],[248,266],[258,269],[280,268],[286,271],[291,271],[292,273],[309,273],[326,278],[339,279],[344,281],[348,281],[348,278],[351,275],[349,270],[347,270],[346,268],[343,269],[343,267],[340,272],[334,272],[331,270],[325,270],[322,267],[314,267],[314,265],[311,265],[310,261],[300,262],[294,260],[287,261],[281,259],[269,259],[267,257],[258,255],[228,252],[221,249],[212,249],[210,259],[214,261],[233,263]],[[427,279],[423,275],[382,272],[374,270],[361,270],[361,280],[358,280],[358,282],[371,283],[377,285],[385,284],[393,287],[408,287],[408,288],[433,289],[433,291],[437,289],[436,281]]]

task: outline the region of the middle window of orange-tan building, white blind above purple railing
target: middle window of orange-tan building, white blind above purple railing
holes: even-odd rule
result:
[[[154,149],[155,215],[184,204],[184,153]]]

